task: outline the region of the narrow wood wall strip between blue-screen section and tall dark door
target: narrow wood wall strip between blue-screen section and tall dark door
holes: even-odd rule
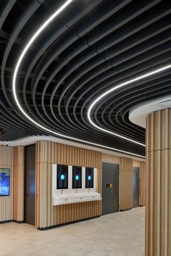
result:
[[[24,146],[14,147],[14,220],[24,220]]]

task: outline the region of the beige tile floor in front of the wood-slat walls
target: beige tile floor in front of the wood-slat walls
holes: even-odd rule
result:
[[[1,256],[144,256],[144,207],[38,231],[0,225]]]

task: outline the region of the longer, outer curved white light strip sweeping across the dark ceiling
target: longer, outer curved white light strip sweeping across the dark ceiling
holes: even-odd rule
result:
[[[28,52],[28,49],[30,49],[30,46],[33,44],[34,41],[36,41],[36,38],[38,38],[38,36],[41,34],[41,32],[50,24],[50,22],[52,20],[54,20],[55,17],[57,17],[57,15],[59,15],[60,12],[62,12],[62,10],[64,8],[67,7],[68,4],[70,4],[70,2],[72,2],[73,0],[68,0],[66,1],[62,7],[60,7],[57,12],[54,12],[53,15],[51,15],[51,17],[49,17],[48,20],[46,20],[46,22],[43,23],[43,25],[41,25],[41,27],[36,31],[35,34],[33,34],[33,36],[30,38],[30,41],[28,41],[28,44],[26,44],[25,48],[23,49],[22,51],[22,54],[20,55],[20,58],[17,60],[17,65],[15,66],[14,68],[14,75],[13,75],[13,78],[12,78],[12,91],[13,91],[13,95],[14,95],[14,100],[17,104],[17,107],[20,109],[20,111],[22,112],[23,115],[25,115],[25,117],[30,120],[31,123],[35,124],[36,126],[38,126],[39,128],[43,129],[44,131],[48,131],[49,133],[53,133],[54,135],[56,136],[61,136],[63,138],[66,138],[66,139],[71,139],[71,140],[75,140],[75,141],[79,141],[79,142],[82,142],[82,143],[86,143],[86,144],[91,144],[93,146],[99,146],[101,148],[104,148],[104,149],[109,149],[109,150],[114,150],[116,152],[121,152],[123,154],[131,154],[135,157],[142,157],[142,158],[145,158],[144,156],[140,155],[140,154],[133,154],[132,152],[126,152],[124,150],[120,150],[120,149],[114,149],[110,146],[104,146],[104,145],[101,145],[101,144],[96,144],[96,143],[92,143],[92,142],[89,142],[89,141],[84,141],[82,139],[76,139],[74,137],[71,137],[71,136],[66,136],[66,135],[63,135],[61,133],[57,133],[56,131],[51,131],[49,128],[46,128],[44,127],[43,125],[41,125],[40,123],[37,123],[35,120],[32,119],[32,117],[30,117],[26,112],[25,110],[22,109],[22,106],[17,98],[17,92],[16,92],[16,80],[17,80],[17,73],[18,73],[18,70],[20,69],[20,66],[22,65],[22,60],[24,59],[25,57],[25,54]],[[96,103],[96,102],[95,102]],[[93,107],[93,106],[92,106]]]

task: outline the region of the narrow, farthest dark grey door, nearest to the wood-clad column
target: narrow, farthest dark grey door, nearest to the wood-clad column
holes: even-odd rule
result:
[[[139,168],[133,167],[133,207],[139,207]]]

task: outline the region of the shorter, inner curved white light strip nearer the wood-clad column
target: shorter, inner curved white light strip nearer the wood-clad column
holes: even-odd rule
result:
[[[141,79],[143,79],[143,78],[147,78],[147,77],[149,77],[149,76],[151,76],[151,75],[154,75],[154,74],[156,74],[156,73],[160,73],[160,72],[162,72],[163,70],[169,69],[170,67],[171,67],[171,65],[167,65],[167,66],[165,66],[165,67],[161,67],[161,68],[159,68],[159,69],[157,69],[157,70],[154,70],[154,71],[152,71],[152,72],[150,72],[150,73],[146,73],[145,75],[141,75],[141,76],[138,76],[137,78],[134,78],[134,79],[132,79],[132,80],[128,80],[128,81],[125,82],[125,83],[121,83],[121,84],[119,84],[118,86],[114,86],[113,88],[111,88],[111,89],[109,89],[108,91],[106,91],[104,94],[101,94],[97,99],[95,99],[95,101],[94,101],[94,102],[91,104],[91,106],[88,108],[88,114],[87,114],[87,115],[88,115],[88,120],[89,120],[89,122],[90,122],[94,127],[98,128],[100,131],[104,131],[105,133],[110,133],[110,134],[112,134],[112,135],[114,135],[114,136],[120,137],[121,139],[125,139],[125,140],[127,140],[127,141],[131,141],[131,142],[133,142],[133,143],[135,143],[135,144],[138,144],[138,145],[141,145],[141,146],[146,146],[146,144],[142,144],[142,143],[140,143],[140,142],[138,142],[138,141],[134,141],[133,139],[128,139],[128,138],[125,137],[125,136],[122,136],[122,135],[117,134],[117,133],[113,133],[112,131],[108,131],[108,130],[106,130],[106,129],[104,129],[104,128],[101,128],[100,126],[96,125],[96,123],[93,123],[93,120],[91,119],[91,110],[93,109],[93,107],[95,106],[95,104],[96,104],[97,102],[99,102],[102,98],[104,98],[104,97],[107,96],[108,94],[111,94],[113,91],[116,91],[117,89],[119,89],[119,88],[121,88],[121,87],[123,87],[123,86],[127,86],[128,84],[133,83],[133,82],[135,82],[135,81],[141,80]]]

